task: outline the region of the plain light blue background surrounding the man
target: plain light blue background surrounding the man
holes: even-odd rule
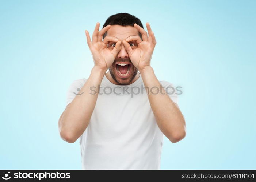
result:
[[[161,169],[256,169],[256,1],[1,1],[0,169],[81,169],[58,119],[88,78],[92,35],[115,13],[149,22],[158,80],[182,86],[187,135],[164,137]]]

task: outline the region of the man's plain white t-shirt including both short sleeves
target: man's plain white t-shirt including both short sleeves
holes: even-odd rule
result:
[[[86,80],[76,79],[70,85],[67,105]],[[160,83],[168,87],[169,97],[178,103],[173,84]],[[163,133],[154,118],[141,75],[124,86],[111,83],[105,75],[100,86],[89,125],[80,136],[82,169],[160,169]]]

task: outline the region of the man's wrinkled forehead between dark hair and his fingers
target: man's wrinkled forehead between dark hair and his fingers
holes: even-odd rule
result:
[[[132,26],[111,25],[107,31],[107,36],[116,37],[119,40],[125,40],[131,35],[139,35],[139,31]]]

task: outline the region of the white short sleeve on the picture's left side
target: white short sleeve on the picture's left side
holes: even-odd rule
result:
[[[66,94],[66,106],[70,104],[73,101],[73,99],[78,95],[79,91],[84,86],[86,80],[87,79],[85,78],[76,79],[70,84],[68,92]]]

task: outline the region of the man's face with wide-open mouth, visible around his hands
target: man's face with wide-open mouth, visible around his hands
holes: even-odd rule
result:
[[[118,52],[113,64],[109,67],[112,78],[121,85],[129,84],[138,73],[137,68],[131,63],[125,46],[122,43],[122,40],[125,40],[131,35],[139,35],[138,30],[132,26],[111,25],[107,31],[107,36],[116,37],[121,40],[121,50]],[[132,48],[137,48],[135,41],[131,41],[129,44]],[[109,42],[108,46],[110,49],[113,49],[115,42]]]

